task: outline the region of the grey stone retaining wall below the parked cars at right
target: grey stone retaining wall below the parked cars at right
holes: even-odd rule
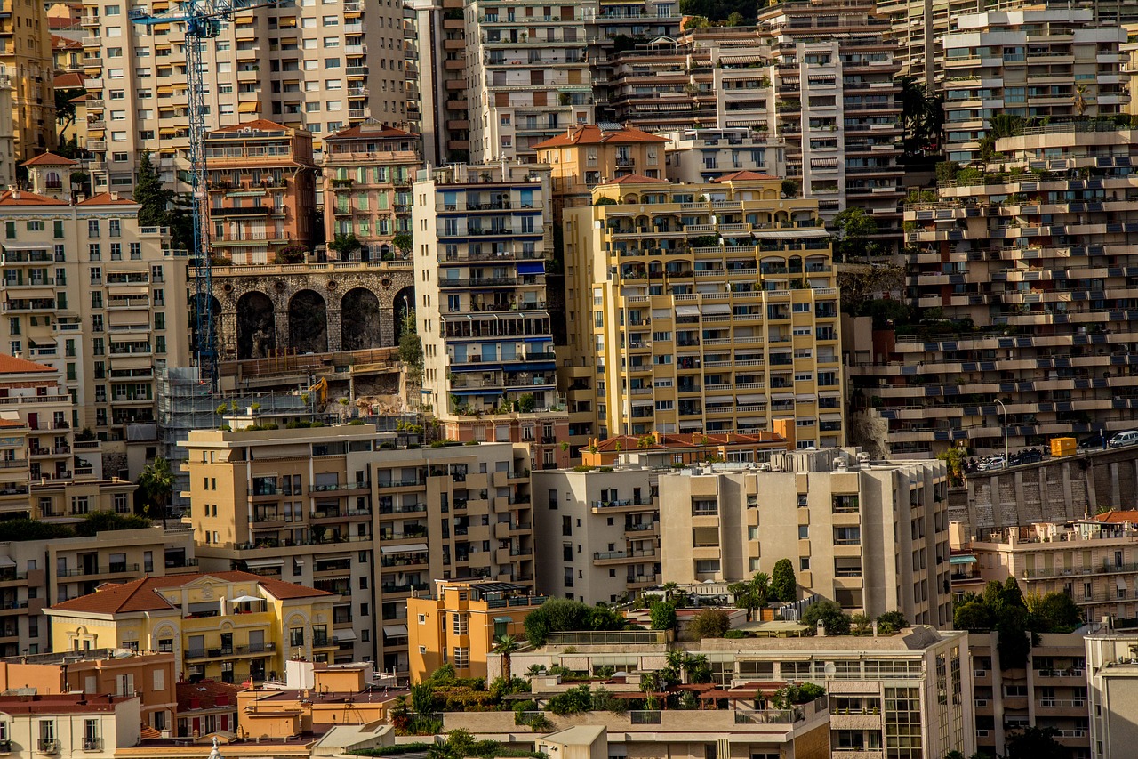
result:
[[[976,472],[948,493],[949,519],[970,533],[1138,507],[1138,447],[1080,452],[997,472]]]

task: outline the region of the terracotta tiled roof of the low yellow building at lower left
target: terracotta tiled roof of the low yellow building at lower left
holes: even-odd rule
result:
[[[306,588],[291,582],[271,580],[249,572],[198,572],[196,574],[174,574],[170,577],[145,577],[122,585],[107,585],[79,598],[64,601],[52,606],[63,611],[89,612],[92,614],[118,614],[140,611],[163,611],[173,609],[160,594],[164,588],[180,588],[205,577],[216,578],[225,582],[256,582],[274,598],[310,598],[331,596],[332,594],[314,588]]]

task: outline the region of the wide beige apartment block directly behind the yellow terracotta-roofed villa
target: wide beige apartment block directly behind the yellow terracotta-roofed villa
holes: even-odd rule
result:
[[[195,431],[182,446],[203,566],[333,594],[337,662],[406,672],[406,598],[434,578],[534,581],[523,448],[395,450],[372,425]]]

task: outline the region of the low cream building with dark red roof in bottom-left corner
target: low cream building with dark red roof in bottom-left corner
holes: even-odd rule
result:
[[[137,745],[142,728],[137,695],[88,699],[85,693],[2,695],[0,740],[19,757],[59,754],[112,759],[121,745]]]

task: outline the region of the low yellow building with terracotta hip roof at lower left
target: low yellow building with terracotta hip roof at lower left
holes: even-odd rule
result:
[[[327,661],[332,594],[248,572],[150,577],[44,610],[55,651],[173,652],[189,680],[259,683],[288,660]]]

